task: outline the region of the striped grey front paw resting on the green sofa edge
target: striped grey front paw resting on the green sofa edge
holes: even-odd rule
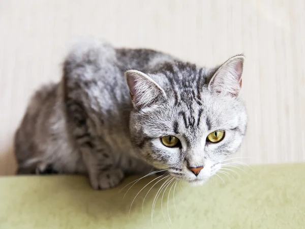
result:
[[[102,171],[96,178],[90,178],[93,189],[109,189],[117,186],[124,179],[124,173],[116,168],[108,171]]]

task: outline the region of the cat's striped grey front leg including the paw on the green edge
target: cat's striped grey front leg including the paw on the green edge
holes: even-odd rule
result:
[[[82,105],[69,102],[67,113],[72,137],[81,151],[92,187],[108,189],[118,185],[124,179],[124,172],[115,162],[110,147],[96,133],[95,124]]]

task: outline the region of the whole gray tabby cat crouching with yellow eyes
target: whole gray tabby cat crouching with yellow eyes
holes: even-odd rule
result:
[[[32,97],[15,135],[18,174],[87,174],[94,189],[166,169],[202,184],[245,135],[244,57],[201,68],[102,41],[72,49],[59,83]]]

